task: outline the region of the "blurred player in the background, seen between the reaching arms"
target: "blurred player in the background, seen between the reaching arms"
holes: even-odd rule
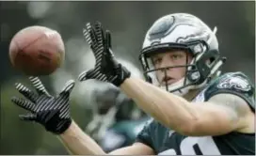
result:
[[[97,82],[91,89],[92,119],[85,132],[105,152],[132,145],[149,117],[116,86]]]

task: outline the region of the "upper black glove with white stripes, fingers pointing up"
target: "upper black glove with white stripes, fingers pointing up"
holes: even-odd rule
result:
[[[126,78],[130,77],[131,72],[113,55],[110,32],[108,30],[104,32],[101,23],[95,23],[94,26],[87,23],[83,33],[95,56],[96,64],[94,69],[80,73],[78,79],[80,81],[97,79],[120,86]]]

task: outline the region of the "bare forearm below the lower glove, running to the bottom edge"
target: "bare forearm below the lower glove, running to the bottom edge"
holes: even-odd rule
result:
[[[104,150],[86,133],[84,133],[74,121],[65,132],[59,135],[65,148],[73,155],[104,155]]]

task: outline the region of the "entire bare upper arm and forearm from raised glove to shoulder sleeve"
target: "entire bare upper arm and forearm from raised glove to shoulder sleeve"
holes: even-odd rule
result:
[[[191,103],[143,80],[128,78],[120,88],[145,112],[186,135],[219,135],[244,131],[253,120],[246,101],[218,94],[210,101]],[[226,97],[226,98],[225,98]]]

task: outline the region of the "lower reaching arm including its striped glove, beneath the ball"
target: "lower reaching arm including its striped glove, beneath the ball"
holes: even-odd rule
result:
[[[30,77],[29,79],[37,92],[33,92],[28,87],[18,83],[16,88],[26,99],[12,98],[15,104],[30,112],[20,115],[21,119],[40,123],[46,131],[55,133],[71,154],[106,154],[88,134],[83,133],[70,117],[69,98],[74,86],[73,81],[69,81],[59,94],[52,96],[38,77]],[[136,145],[128,149],[119,149],[117,152],[124,155],[143,155],[152,154],[152,149],[144,145]],[[114,151],[113,154],[115,153]]]

